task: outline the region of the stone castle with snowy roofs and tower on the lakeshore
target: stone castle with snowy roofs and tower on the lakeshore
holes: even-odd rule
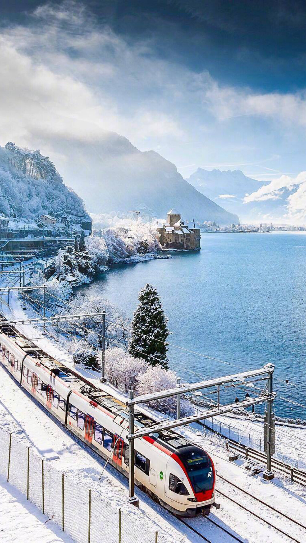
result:
[[[176,209],[168,211],[167,223],[158,224],[157,232],[164,249],[201,250],[200,227],[194,222],[185,223]]]

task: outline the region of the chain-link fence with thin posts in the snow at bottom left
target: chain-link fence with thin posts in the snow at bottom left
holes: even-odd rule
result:
[[[76,543],[175,543],[139,510],[120,508],[0,429],[0,474]]]

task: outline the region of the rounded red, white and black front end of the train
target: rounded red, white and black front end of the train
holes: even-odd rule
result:
[[[180,516],[208,515],[215,501],[215,468],[207,452],[195,445],[180,447],[171,455],[167,471],[165,495],[171,509]]]

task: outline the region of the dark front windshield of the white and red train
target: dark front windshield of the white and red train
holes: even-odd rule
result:
[[[195,493],[213,488],[213,466],[204,451],[201,449],[190,450],[190,452],[183,454],[182,460]]]

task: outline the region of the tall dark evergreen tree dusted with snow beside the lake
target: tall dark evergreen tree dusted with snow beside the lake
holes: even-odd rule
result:
[[[139,292],[139,304],[132,320],[129,352],[144,358],[150,365],[168,369],[168,319],[162,309],[156,288],[149,283]]]

